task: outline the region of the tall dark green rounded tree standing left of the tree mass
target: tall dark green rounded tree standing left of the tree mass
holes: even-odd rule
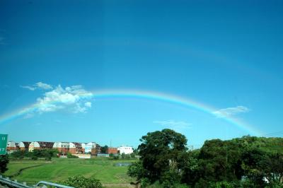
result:
[[[138,147],[144,177],[151,182],[165,182],[181,178],[181,160],[187,151],[187,139],[171,129],[149,132],[142,136]],[[176,180],[178,181],[178,180]]]

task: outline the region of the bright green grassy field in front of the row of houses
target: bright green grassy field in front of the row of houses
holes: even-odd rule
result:
[[[134,180],[127,176],[127,167],[115,166],[115,163],[131,162],[134,160],[109,160],[108,158],[53,158],[51,162],[11,160],[4,175],[14,175],[11,179],[28,184],[35,184],[40,180],[60,182],[73,175],[83,175],[84,177],[95,177],[108,187],[122,187],[122,184],[129,184]],[[30,168],[22,170],[17,175],[19,170],[27,167]]]

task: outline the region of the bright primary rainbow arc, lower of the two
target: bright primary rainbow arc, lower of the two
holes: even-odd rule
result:
[[[176,105],[182,105],[185,107],[193,107],[202,112],[207,112],[215,116],[214,112],[216,108],[211,107],[209,105],[204,105],[201,102],[197,102],[196,100],[192,100],[190,98],[183,98],[178,95],[171,95],[166,93],[158,93],[155,91],[149,90],[92,90],[91,95],[79,94],[83,98],[144,98],[149,100],[160,100],[163,102],[169,102]],[[50,102],[51,103],[51,102]],[[56,103],[56,102],[53,102]],[[30,105],[28,107],[24,107],[22,110],[17,110],[16,112],[12,112],[11,114],[5,114],[0,117],[0,124],[4,124],[12,119],[16,119],[16,117],[21,117],[24,114],[28,114],[30,112],[35,112],[38,108],[37,104]],[[229,122],[235,125],[238,128],[241,128],[245,131],[248,131],[248,134],[260,135],[262,134],[260,131],[256,130],[249,124],[245,122],[241,122],[239,119],[235,119],[233,117],[221,117],[225,119],[226,122]]]

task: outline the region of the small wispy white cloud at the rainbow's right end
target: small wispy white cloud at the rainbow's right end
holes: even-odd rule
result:
[[[248,107],[245,106],[236,106],[236,107],[227,107],[227,108],[223,108],[220,110],[216,110],[213,112],[213,114],[216,117],[229,117],[229,116],[233,116],[239,113],[246,113],[249,112],[250,109],[248,109]]]

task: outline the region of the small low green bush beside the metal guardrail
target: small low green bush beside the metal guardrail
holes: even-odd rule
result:
[[[76,187],[76,188],[100,188],[102,184],[99,180],[94,178],[88,179],[81,175],[76,175],[73,177],[69,177],[68,180],[62,182],[61,184]]]

